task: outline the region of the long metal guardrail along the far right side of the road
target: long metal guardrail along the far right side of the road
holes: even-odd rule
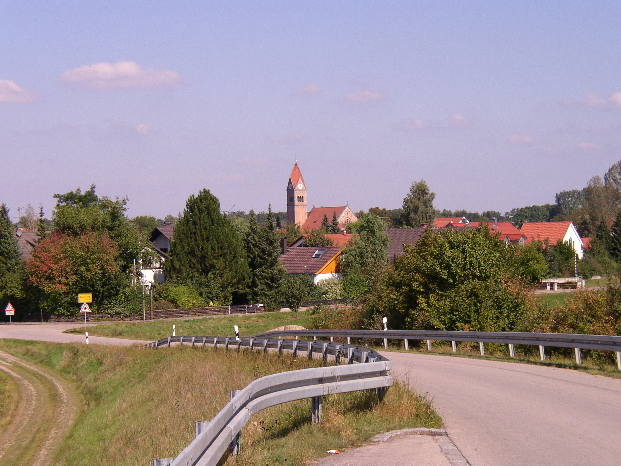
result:
[[[504,343],[509,345],[510,357],[515,357],[514,345],[537,345],[540,359],[545,360],[545,347],[573,348],[576,363],[582,362],[581,349],[614,351],[617,355],[617,368],[621,370],[621,337],[610,335],[581,335],[556,333],[526,333],[526,332],[448,332],[437,330],[290,330],[270,331],[253,335],[253,338],[278,336],[293,337],[335,337],[383,339],[384,347],[388,349],[388,340],[404,340],[404,346],[409,349],[409,340],[427,340],[427,349],[431,351],[433,340],[452,342],[453,352],[456,352],[456,342],[475,342],[479,344],[481,355],[485,355],[485,343]]]

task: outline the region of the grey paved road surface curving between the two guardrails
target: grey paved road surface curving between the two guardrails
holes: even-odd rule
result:
[[[472,466],[621,464],[621,380],[575,370],[382,352],[427,393]]]

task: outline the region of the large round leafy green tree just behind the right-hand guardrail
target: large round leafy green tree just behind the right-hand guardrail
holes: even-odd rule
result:
[[[511,331],[524,315],[515,248],[486,226],[427,232],[379,290],[391,328]]]

